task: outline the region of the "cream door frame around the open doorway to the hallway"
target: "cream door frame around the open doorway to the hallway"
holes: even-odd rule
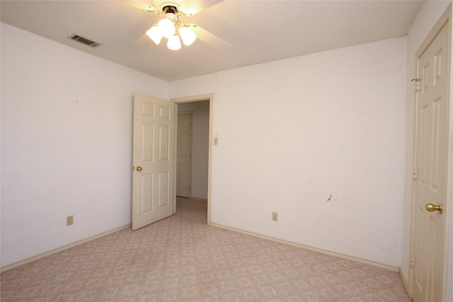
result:
[[[210,129],[209,129],[209,150],[208,150],[208,163],[207,163],[207,224],[211,224],[211,203],[212,203],[212,120],[214,116],[214,93],[207,93],[207,94],[201,94],[201,95],[191,95],[191,96],[186,96],[182,98],[171,98],[170,99],[173,103],[175,103],[175,117],[176,117],[176,123],[178,122],[178,104],[180,103],[191,103],[191,102],[197,102],[200,100],[209,100],[210,101]],[[175,132],[178,131],[178,124],[175,126]],[[178,148],[177,144],[177,138],[178,134],[175,133],[175,144],[174,144],[174,149],[175,152],[174,156],[176,157],[176,149]],[[176,158],[175,158],[176,161]],[[177,168],[176,165],[174,167],[175,169]],[[176,192],[176,170],[174,175],[174,185],[175,185],[175,192]],[[176,211],[176,201],[175,201],[175,207]]]

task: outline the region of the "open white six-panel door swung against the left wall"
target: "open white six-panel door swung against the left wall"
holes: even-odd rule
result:
[[[134,93],[133,230],[174,213],[174,108],[169,100]]]

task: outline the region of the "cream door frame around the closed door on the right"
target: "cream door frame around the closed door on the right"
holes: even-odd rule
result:
[[[446,25],[446,23],[448,23]],[[453,79],[453,47],[452,47],[452,4],[449,4],[447,9],[445,10],[444,13],[442,13],[442,16],[439,18],[437,23],[435,23],[434,27],[430,30],[430,33],[425,37],[425,40],[423,41],[422,45],[418,48],[418,51],[415,53],[415,78],[417,78],[417,73],[418,73],[418,60],[421,54],[425,52],[425,50],[430,46],[431,42],[437,37],[437,34],[440,33],[440,30],[445,26],[448,26],[449,28],[449,45],[450,45],[450,52],[449,52],[449,88],[447,88],[448,95],[448,103],[449,103],[449,121],[448,121],[448,138],[447,138],[447,144],[448,144],[448,151],[447,151],[447,187],[446,187],[446,195],[445,195],[445,231],[444,231],[444,240],[445,240],[445,245],[444,245],[444,250],[443,250],[443,263],[444,263],[444,271],[443,271],[443,276],[442,276],[442,301],[447,301],[447,275],[449,271],[449,262],[448,262],[448,253],[449,253],[449,248],[452,249],[453,252],[453,243],[449,242],[449,237],[453,238],[453,233],[452,231],[449,230],[449,226],[453,223],[453,209],[450,208],[450,206],[453,205],[453,194],[452,194],[452,187],[453,187],[453,85],[451,84],[451,80]],[[412,168],[413,170],[416,167],[416,158],[417,158],[417,106],[418,104],[418,93],[415,93],[415,110],[414,110],[414,132],[413,132],[413,161],[412,161]],[[411,258],[411,255],[413,255],[413,248],[414,248],[414,236],[415,236],[415,183],[413,182],[412,185],[412,200],[411,200],[411,244],[410,244],[410,255],[409,257]],[[452,233],[452,234],[450,234]],[[453,260],[450,260],[450,262],[453,262]],[[453,265],[450,265],[453,266]],[[412,291],[413,291],[413,269],[410,266],[409,267],[409,296],[412,296]],[[453,278],[452,276],[449,276],[450,278]],[[451,282],[451,281],[450,281]],[[450,284],[451,285],[451,284]]]

